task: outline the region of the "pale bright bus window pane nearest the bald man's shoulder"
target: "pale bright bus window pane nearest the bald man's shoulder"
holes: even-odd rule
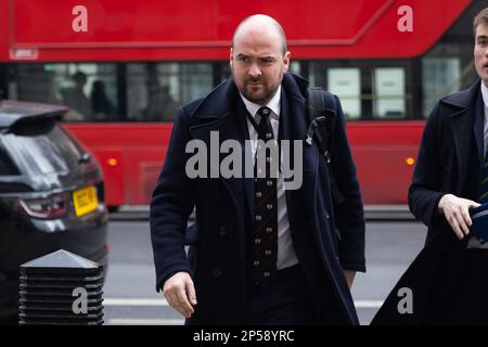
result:
[[[357,119],[361,115],[360,70],[355,67],[328,69],[328,88],[341,99],[347,118]]]

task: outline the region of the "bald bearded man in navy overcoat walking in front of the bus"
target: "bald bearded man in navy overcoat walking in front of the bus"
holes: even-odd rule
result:
[[[300,144],[306,138],[308,82],[287,73],[290,52],[274,20],[254,15],[241,23],[230,65],[233,78],[183,106],[175,121],[151,203],[156,290],[187,324],[357,324],[349,286],[356,271],[365,271],[364,220],[337,98],[337,108],[331,110],[337,120],[331,165],[342,204],[332,202],[330,167],[316,141],[295,153],[303,157],[303,166],[294,168],[303,170],[298,189],[285,190],[281,171],[266,181],[188,175],[189,143],[214,151],[236,140],[244,153],[246,141],[261,137]],[[207,155],[210,171],[219,168],[219,163],[213,167],[213,155]],[[218,158],[223,163],[222,153]],[[265,209],[260,183],[264,189],[275,184],[265,194]],[[187,223],[194,207],[196,235],[187,256]],[[256,246],[265,243],[256,236],[262,220],[266,232],[278,239],[264,254]],[[262,256],[274,260],[260,272],[256,257]]]

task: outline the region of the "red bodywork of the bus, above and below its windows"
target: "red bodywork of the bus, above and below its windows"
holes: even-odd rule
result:
[[[226,61],[236,25],[265,13],[284,27],[292,59],[409,59],[432,48],[468,0],[284,1],[0,0],[0,62]],[[73,9],[88,10],[76,33]],[[400,30],[404,7],[413,31]],[[349,121],[365,204],[406,204],[424,121]],[[66,124],[99,158],[111,206],[143,205],[171,124]]]

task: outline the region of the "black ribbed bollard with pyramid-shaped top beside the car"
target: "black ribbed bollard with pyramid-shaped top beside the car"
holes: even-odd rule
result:
[[[21,266],[21,325],[103,324],[103,267],[64,249]]]

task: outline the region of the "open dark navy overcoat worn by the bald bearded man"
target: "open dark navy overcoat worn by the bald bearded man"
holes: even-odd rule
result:
[[[307,86],[298,76],[284,75],[282,139],[305,139]],[[333,165],[346,202],[334,210],[329,168],[313,143],[304,145],[304,182],[299,190],[286,192],[286,207],[294,247],[317,298],[319,313],[331,322],[357,323],[343,268],[365,270],[364,220],[344,116],[341,108],[336,113],[339,121],[336,121]],[[175,121],[151,203],[156,288],[174,273],[188,271],[198,300],[188,323],[239,324],[245,323],[247,307],[246,240],[254,215],[254,180],[187,177],[185,163],[193,155],[185,153],[188,141],[198,139],[210,147],[210,131],[218,131],[220,143],[236,139],[243,149],[248,139],[246,110],[232,80],[218,86],[205,99],[182,107]],[[197,237],[188,259],[183,245],[193,207],[196,207]],[[331,317],[334,319],[330,320]]]

